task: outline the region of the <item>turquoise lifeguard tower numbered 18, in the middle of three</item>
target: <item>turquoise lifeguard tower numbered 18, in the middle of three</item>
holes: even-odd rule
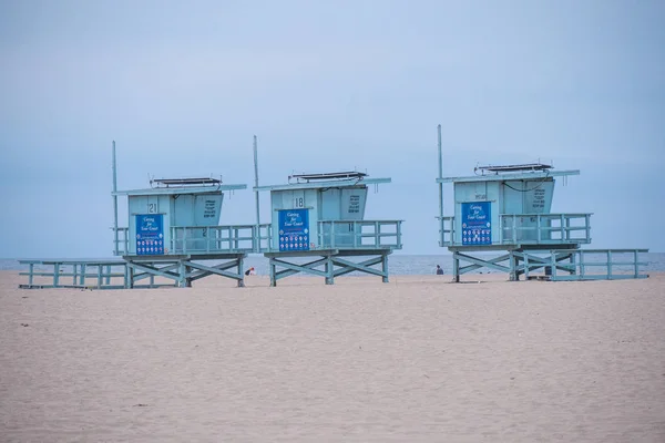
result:
[[[326,285],[352,271],[388,282],[388,256],[401,248],[401,220],[365,219],[369,185],[385,183],[390,178],[338,172],[291,175],[287,184],[257,185],[255,192],[270,192],[270,250],[264,254],[269,259],[270,286],[298,272],[325,277]],[[316,259],[294,261],[303,257]],[[350,257],[366,259],[358,262]]]

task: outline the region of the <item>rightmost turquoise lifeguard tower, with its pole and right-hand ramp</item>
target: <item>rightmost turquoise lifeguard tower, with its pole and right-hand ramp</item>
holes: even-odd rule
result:
[[[640,271],[646,264],[638,260],[647,249],[581,249],[591,244],[592,214],[551,213],[555,178],[580,171],[531,163],[480,166],[471,176],[443,177],[441,125],[438,130],[439,246],[452,253],[453,281],[481,268],[508,272],[510,280],[522,275],[548,280],[647,277]],[[444,183],[453,185],[454,216],[443,216]],[[488,253],[497,256],[488,258]],[[539,269],[545,275],[532,274]]]

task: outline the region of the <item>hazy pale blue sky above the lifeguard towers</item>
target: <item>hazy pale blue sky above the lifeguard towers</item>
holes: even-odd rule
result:
[[[248,185],[222,224],[253,224],[254,135],[260,185],[391,177],[366,218],[444,254],[438,124],[444,176],[580,169],[552,212],[593,213],[592,247],[665,253],[663,23],[659,0],[0,0],[0,257],[111,256],[112,141],[120,189],[222,175]]]

